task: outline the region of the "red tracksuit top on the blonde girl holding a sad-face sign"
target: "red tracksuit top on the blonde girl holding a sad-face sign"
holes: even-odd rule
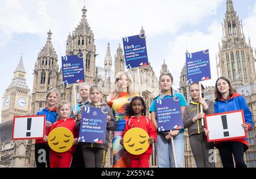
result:
[[[74,139],[77,138],[79,136],[79,131],[75,130],[75,124],[76,124],[76,120],[72,119],[72,118],[68,118],[68,119],[59,119],[57,120],[55,123],[52,124],[50,130],[47,132],[47,136],[49,135],[49,133],[57,128],[57,127],[65,127],[68,130],[70,130],[74,136]],[[51,149],[52,153],[58,153],[55,152]],[[73,145],[67,152],[71,152],[71,153],[75,153],[76,152],[76,145]],[[65,153],[65,152],[64,152]]]

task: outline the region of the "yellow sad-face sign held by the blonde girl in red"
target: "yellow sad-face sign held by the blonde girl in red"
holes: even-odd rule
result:
[[[59,153],[67,152],[73,145],[74,136],[65,127],[57,127],[48,135],[49,147]]]

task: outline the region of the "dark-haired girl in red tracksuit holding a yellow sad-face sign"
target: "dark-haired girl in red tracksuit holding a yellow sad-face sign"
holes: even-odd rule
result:
[[[148,143],[155,143],[157,134],[155,127],[151,120],[146,116],[146,104],[142,97],[134,97],[131,99],[128,114],[131,116],[129,120],[127,120],[125,125],[125,130],[123,131],[123,136],[126,131],[133,127],[139,127],[145,130],[150,138],[148,139]],[[120,144],[123,145],[123,139],[120,140]],[[150,168],[149,159],[152,154],[152,145],[150,145],[146,152],[141,155],[132,155],[130,154],[130,167],[131,168]]]

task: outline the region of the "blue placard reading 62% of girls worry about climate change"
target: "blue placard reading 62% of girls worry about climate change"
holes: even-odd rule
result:
[[[61,57],[61,62],[63,85],[85,81],[84,60],[81,53],[79,55],[63,56]]]

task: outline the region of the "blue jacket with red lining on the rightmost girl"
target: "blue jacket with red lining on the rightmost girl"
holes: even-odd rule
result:
[[[253,128],[253,115],[249,107],[246,104],[246,100],[242,97],[241,94],[234,93],[232,97],[228,99],[222,98],[221,101],[217,101],[214,103],[215,113],[225,113],[228,111],[236,111],[243,110],[243,115],[245,116],[245,123],[249,126],[249,131]],[[232,139],[225,141],[239,141],[245,144],[244,150],[247,151],[248,143],[247,140],[244,139]],[[221,143],[222,141],[216,141],[214,144]],[[216,146],[217,147],[217,146]]]

